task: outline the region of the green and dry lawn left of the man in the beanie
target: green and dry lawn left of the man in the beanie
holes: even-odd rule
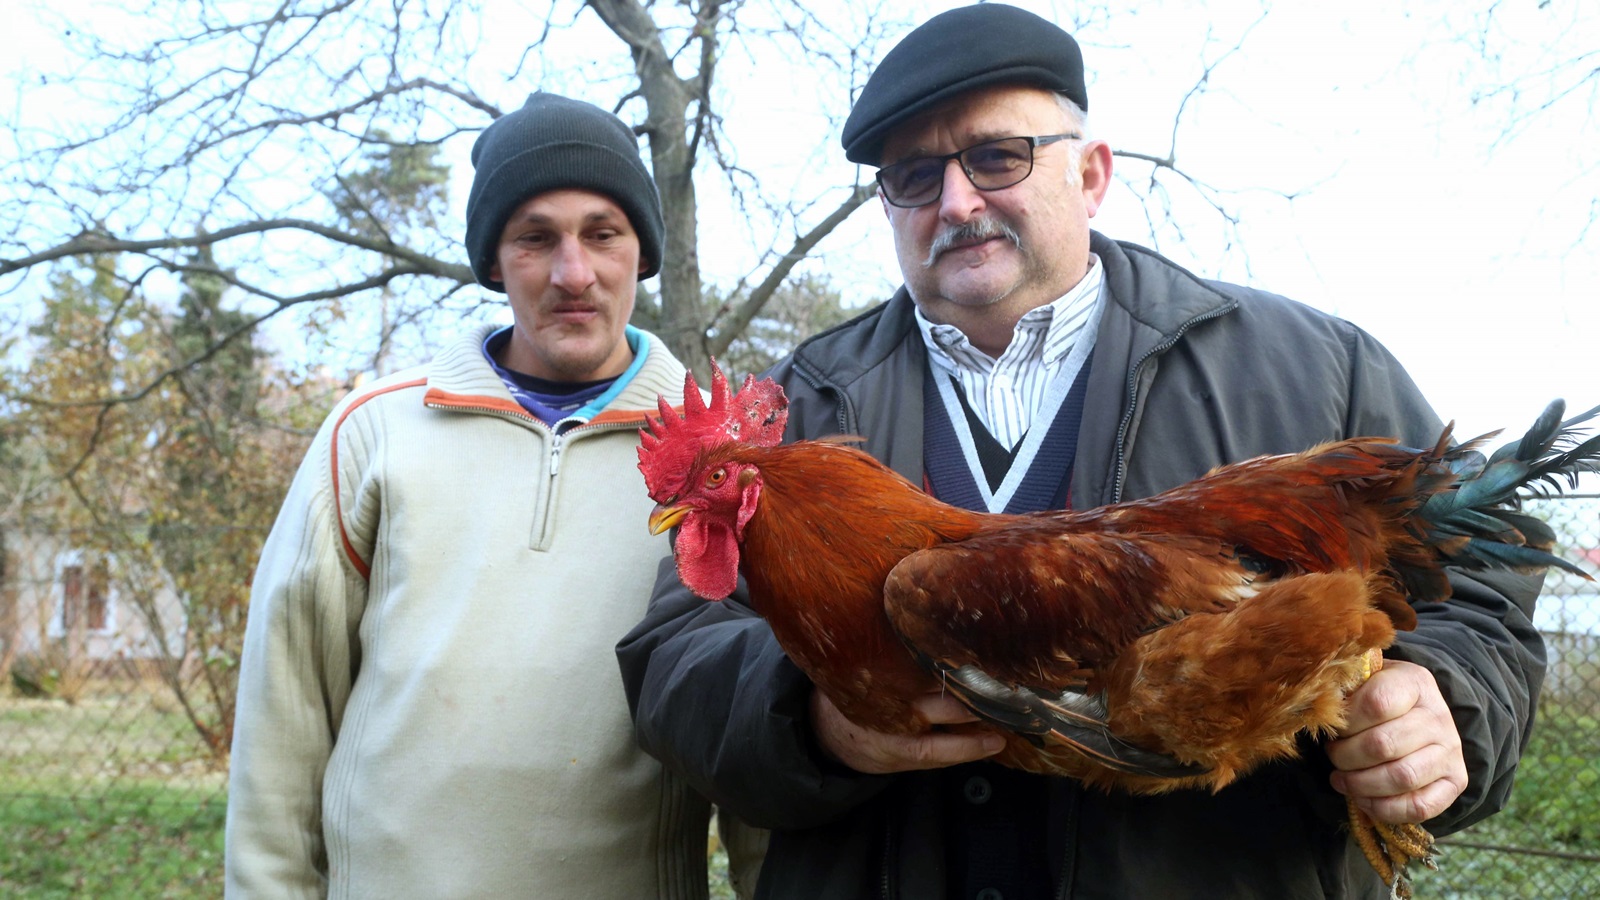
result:
[[[226,773],[150,685],[0,697],[0,897],[222,895]]]

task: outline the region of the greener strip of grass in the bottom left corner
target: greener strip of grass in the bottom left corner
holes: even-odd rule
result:
[[[221,897],[224,810],[174,788],[0,796],[0,897]]]

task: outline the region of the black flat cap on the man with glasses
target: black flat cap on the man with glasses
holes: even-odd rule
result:
[[[1090,109],[1083,53],[1072,35],[1016,6],[962,6],[906,35],[872,72],[845,120],[845,159],[878,165],[896,127],[989,85],[1034,85]]]

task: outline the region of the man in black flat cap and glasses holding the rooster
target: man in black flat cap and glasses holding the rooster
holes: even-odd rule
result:
[[[1112,152],[1077,43],[986,3],[934,16],[874,72],[843,128],[877,167],[906,285],[773,376],[789,439],[862,447],[992,512],[1149,496],[1213,466],[1440,421],[1370,335],[1203,280],[1090,229]],[[1530,578],[1451,575],[1357,690],[1341,740],[1304,740],[1216,794],[1128,796],[1002,769],[973,716],[920,700],[920,737],[842,719],[741,602],[662,569],[618,647],[640,740],[714,802],[773,828],[760,898],[1389,897],[1346,798],[1435,834],[1506,804],[1544,653]]]

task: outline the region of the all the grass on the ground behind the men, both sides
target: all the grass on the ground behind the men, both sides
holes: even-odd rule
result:
[[[1600,862],[1547,855],[1600,857],[1592,709],[1547,698],[1510,804],[1446,839],[1418,900],[1600,897]],[[0,698],[0,898],[221,897],[224,785],[170,708]],[[712,898],[731,898],[712,849]]]

